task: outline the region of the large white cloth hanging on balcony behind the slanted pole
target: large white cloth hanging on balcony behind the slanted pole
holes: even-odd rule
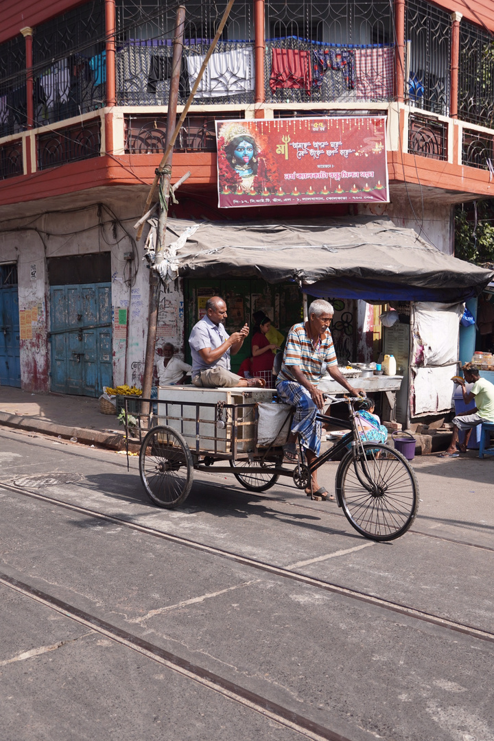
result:
[[[190,87],[196,82],[205,54],[187,56]],[[212,54],[199,83],[196,98],[220,98],[254,90],[252,47]]]

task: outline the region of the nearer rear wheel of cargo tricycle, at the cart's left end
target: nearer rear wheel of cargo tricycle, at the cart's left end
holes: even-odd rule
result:
[[[154,427],[144,437],[139,473],[147,496],[158,507],[172,508],[187,499],[193,459],[184,438],[171,427]]]

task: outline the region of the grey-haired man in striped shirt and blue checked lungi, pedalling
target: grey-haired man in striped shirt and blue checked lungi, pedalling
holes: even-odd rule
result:
[[[285,456],[290,460],[298,458],[296,439],[300,436],[301,444],[310,463],[317,458],[321,449],[321,422],[316,416],[324,406],[324,396],[318,390],[318,382],[323,373],[323,364],[327,372],[352,396],[364,393],[355,389],[338,371],[338,361],[333,348],[330,323],[333,319],[333,306],[323,299],[313,301],[307,311],[307,322],[293,325],[287,336],[281,371],[276,379],[276,391],[279,398],[296,407],[293,425]],[[312,492],[306,488],[307,496],[320,496],[327,499],[324,486],[319,486],[317,471],[312,476]],[[330,499],[334,499],[330,496]]]

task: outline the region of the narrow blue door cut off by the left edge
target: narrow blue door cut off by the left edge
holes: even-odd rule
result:
[[[16,265],[0,265],[0,384],[21,388]]]

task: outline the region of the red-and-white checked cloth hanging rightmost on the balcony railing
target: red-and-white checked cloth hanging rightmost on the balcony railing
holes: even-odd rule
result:
[[[393,98],[394,47],[364,47],[355,50],[355,93],[357,98]]]

